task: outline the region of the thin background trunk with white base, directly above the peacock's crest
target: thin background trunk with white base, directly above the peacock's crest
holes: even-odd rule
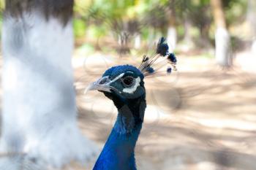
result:
[[[170,53],[176,48],[177,32],[176,32],[176,16],[175,16],[175,0],[170,1],[169,23],[167,28],[167,43],[170,47]]]

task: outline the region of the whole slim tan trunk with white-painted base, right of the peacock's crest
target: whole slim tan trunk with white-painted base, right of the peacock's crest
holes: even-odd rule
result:
[[[214,21],[217,27],[215,31],[216,60],[220,66],[229,67],[232,65],[230,35],[227,31],[225,14],[222,9],[222,1],[211,0],[211,8],[214,13]]]

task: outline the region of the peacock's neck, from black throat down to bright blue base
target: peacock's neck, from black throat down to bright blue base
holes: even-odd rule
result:
[[[118,117],[94,170],[134,170],[135,145],[143,124],[145,98],[128,101],[118,108]]]

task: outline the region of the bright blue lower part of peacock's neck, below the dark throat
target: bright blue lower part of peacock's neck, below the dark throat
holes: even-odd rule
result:
[[[135,144],[140,134],[142,123],[127,131],[123,124],[124,117],[118,113],[118,119],[111,131],[94,170],[135,170]]]

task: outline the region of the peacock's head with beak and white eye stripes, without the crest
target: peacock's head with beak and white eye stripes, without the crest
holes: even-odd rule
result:
[[[99,80],[91,83],[88,90],[99,90],[115,104],[127,104],[135,98],[145,98],[143,79],[143,73],[135,66],[113,66]]]

